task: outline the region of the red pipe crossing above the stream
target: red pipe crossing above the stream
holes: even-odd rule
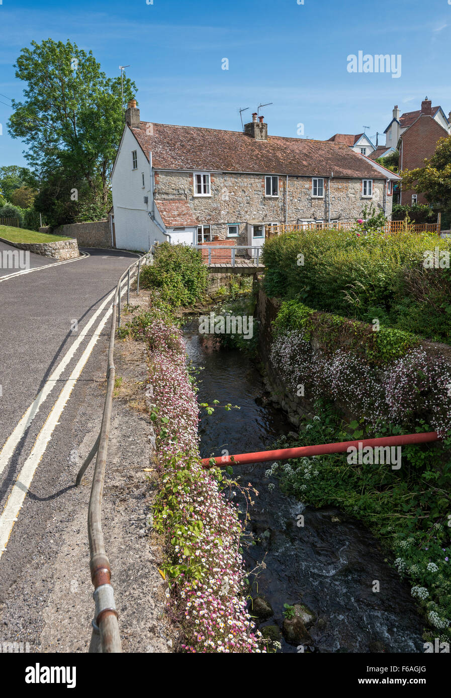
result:
[[[341,441],[337,443],[324,443],[317,446],[300,446],[297,448],[280,448],[277,451],[259,451],[257,453],[241,453],[238,456],[218,456],[214,459],[216,466],[242,466],[245,463],[263,463],[264,461],[286,461],[289,458],[302,458],[302,456],[324,456],[329,453],[345,453],[350,446],[359,448],[359,444],[365,446],[407,446],[410,443],[427,443],[437,441],[436,431],[426,431],[416,434],[404,434],[403,436],[381,436],[380,438],[366,438],[357,441]],[[203,458],[201,463],[205,468],[214,467],[210,463],[212,459]]]

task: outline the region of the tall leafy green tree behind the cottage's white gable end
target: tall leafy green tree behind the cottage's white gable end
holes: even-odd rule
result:
[[[27,87],[24,101],[13,101],[10,135],[27,143],[25,156],[42,179],[61,167],[77,172],[106,204],[123,129],[120,77],[107,78],[92,52],[69,40],[32,41],[31,47],[15,64]],[[124,100],[135,94],[136,85],[124,77]]]

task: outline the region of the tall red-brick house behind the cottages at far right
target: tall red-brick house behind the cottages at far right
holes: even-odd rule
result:
[[[442,107],[433,107],[431,100],[422,101],[421,109],[405,112],[399,116],[399,108],[395,105],[393,118],[385,129],[386,147],[394,147],[399,151],[399,170],[415,170],[424,165],[424,160],[434,155],[437,141],[446,138],[451,133],[451,112],[445,116]],[[401,186],[401,204],[427,204],[423,194],[403,189]]]

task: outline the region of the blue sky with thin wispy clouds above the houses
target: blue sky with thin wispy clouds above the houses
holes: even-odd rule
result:
[[[426,95],[451,110],[448,0],[1,0],[0,28],[0,165],[26,164],[6,128],[23,87],[13,64],[49,37],[91,49],[109,76],[130,64],[145,121],[238,131],[238,107],[273,102],[270,134],[296,137],[301,123],[325,139],[384,131],[395,103],[414,110]],[[359,50],[401,54],[401,77],[349,73]]]

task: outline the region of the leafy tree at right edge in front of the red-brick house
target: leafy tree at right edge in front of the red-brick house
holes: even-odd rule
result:
[[[424,167],[403,170],[403,187],[424,194],[429,203],[451,209],[451,137],[437,142],[434,155]]]

